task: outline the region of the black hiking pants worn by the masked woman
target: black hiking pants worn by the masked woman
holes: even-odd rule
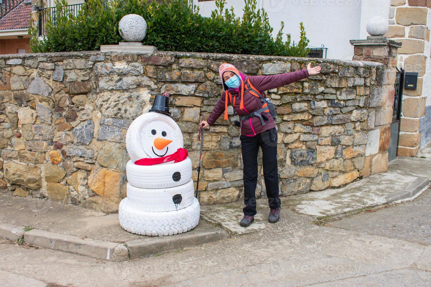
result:
[[[278,166],[277,166],[277,129],[266,130],[256,136],[240,136],[243,179],[244,179],[244,215],[256,214],[256,185],[257,185],[257,154],[262,148],[263,177],[266,195],[271,209],[281,205],[278,197]]]

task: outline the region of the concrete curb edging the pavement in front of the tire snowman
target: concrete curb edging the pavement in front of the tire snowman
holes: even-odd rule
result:
[[[91,238],[80,238],[56,232],[32,229],[25,231],[25,226],[0,223],[0,238],[59,250],[67,253],[89,256],[109,261],[127,261],[138,257],[150,256],[184,247],[200,246],[219,241],[229,236],[221,228],[210,228],[185,232],[181,237],[163,236],[126,241],[119,244]]]

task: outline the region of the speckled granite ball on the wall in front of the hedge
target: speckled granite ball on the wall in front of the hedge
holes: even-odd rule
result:
[[[137,14],[123,16],[118,28],[121,37],[127,42],[141,42],[147,35],[147,22]]]

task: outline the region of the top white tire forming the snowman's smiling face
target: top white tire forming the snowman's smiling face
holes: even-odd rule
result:
[[[156,135],[150,135],[149,130],[156,129]],[[167,130],[171,134],[166,135],[173,142],[168,145],[166,154],[161,151],[160,155],[153,154],[150,147],[153,147],[152,140],[161,137],[162,130]],[[163,136],[164,137],[164,136]],[[137,117],[129,126],[126,133],[126,148],[129,157],[133,162],[141,158],[157,158],[162,154],[164,156],[173,154],[178,148],[184,148],[183,134],[178,124],[166,114],[157,112],[148,112]]]

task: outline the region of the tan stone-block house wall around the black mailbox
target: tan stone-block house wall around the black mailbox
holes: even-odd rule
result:
[[[385,35],[403,43],[398,67],[419,73],[417,89],[404,89],[398,153],[405,156],[415,156],[419,147],[431,141],[430,7],[429,0],[391,0]]]

